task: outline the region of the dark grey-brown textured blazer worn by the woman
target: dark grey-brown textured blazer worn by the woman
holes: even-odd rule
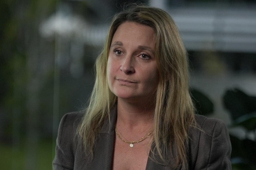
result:
[[[107,119],[99,131],[94,147],[93,160],[88,161],[82,145],[77,142],[74,136],[83,115],[79,112],[65,114],[59,125],[53,170],[110,170],[113,158],[116,115],[117,108],[114,106],[110,113],[110,123]],[[195,115],[195,118],[204,132],[196,128],[189,130],[189,169],[231,170],[231,144],[224,122],[200,115]],[[175,153],[175,150],[173,152]],[[152,156],[151,152],[150,155]],[[156,160],[161,161],[159,157],[156,157]],[[175,158],[170,159],[171,164],[174,165],[175,162]],[[171,168],[148,158],[146,170],[167,169]],[[175,170],[178,169],[181,170],[181,167]]]

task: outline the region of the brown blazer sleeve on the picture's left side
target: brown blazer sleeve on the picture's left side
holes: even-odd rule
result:
[[[77,113],[65,114],[59,124],[56,139],[55,157],[53,159],[53,170],[73,170],[74,167],[74,135],[75,119]]]

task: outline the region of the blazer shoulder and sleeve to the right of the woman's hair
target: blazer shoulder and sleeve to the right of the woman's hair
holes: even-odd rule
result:
[[[190,165],[193,169],[231,169],[231,144],[222,120],[195,115],[196,127],[189,130]]]

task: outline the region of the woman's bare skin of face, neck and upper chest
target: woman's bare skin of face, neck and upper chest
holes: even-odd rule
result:
[[[108,85],[117,96],[116,128],[127,141],[140,140],[153,128],[159,83],[154,46],[154,30],[135,22],[121,24],[110,45]],[[116,136],[113,169],[145,169],[152,136],[132,148]]]

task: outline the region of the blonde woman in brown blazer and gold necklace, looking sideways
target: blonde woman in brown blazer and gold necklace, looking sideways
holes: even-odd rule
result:
[[[61,119],[53,169],[231,169],[225,124],[194,114],[187,60],[167,12],[116,14],[89,106]]]

